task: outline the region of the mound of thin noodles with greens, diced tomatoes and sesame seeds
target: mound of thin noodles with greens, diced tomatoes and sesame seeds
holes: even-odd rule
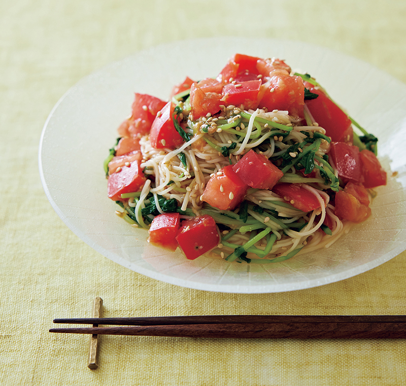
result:
[[[275,58],[235,54],[167,101],[136,93],[118,134],[104,165],[116,213],[188,259],[264,264],[329,247],[386,185],[378,139]]]

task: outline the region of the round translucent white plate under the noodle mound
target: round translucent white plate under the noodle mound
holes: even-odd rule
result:
[[[234,53],[285,59],[321,83],[349,114],[379,137],[388,185],[377,189],[373,216],[329,249],[275,264],[187,260],[147,242],[115,215],[103,161],[130,113],[134,92],[167,99],[174,84],[216,76]],[[65,224],[124,267],[178,286],[228,293],[270,293],[336,282],[406,249],[406,85],[377,68],[325,48],[281,40],[216,38],[158,46],[82,79],[48,117],[39,149],[45,192]],[[396,176],[391,177],[395,172]]]

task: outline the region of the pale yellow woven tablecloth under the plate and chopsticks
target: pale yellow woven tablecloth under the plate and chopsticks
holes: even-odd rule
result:
[[[406,82],[402,0],[0,2],[0,384],[402,385],[404,340],[216,340],[50,334],[52,319],[181,314],[406,314],[406,254],[339,283],[259,295],[157,282],[101,256],[43,191],[38,145],[59,97],[138,50],[214,36],[284,38],[341,51]]]

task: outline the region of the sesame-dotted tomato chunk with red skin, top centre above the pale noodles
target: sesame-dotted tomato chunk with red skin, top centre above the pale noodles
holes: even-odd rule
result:
[[[225,106],[229,104],[234,104],[235,106],[240,106],[244,104],[245,109],[255,110],[258,107],[258,92],[261,87],[260,80],[239,82],[239,83],[229,83],[224,85],[221,100],[224,102]]]

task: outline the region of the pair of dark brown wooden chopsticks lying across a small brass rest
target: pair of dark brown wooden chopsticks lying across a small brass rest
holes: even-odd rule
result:
[[[53,328],[50,332],[191,338],[406,338],[405,315],[203,315],[54,319],[54,323],[114,327]]]

